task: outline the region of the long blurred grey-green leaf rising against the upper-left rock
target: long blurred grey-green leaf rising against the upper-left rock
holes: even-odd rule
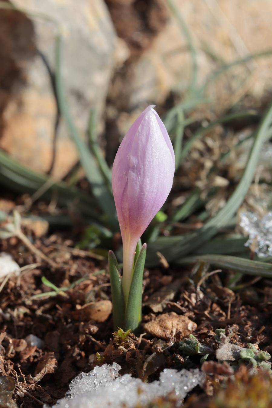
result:
[[[61,48],[62,48],[62,38],[58,35],[56,42],[56,93],[57,102],[60,106],[60,112],[65,120],[67,129],[71,135],[73,142],[77,148],[78,155],[80,157],[80,162],[85,171],[88,182],[91,184],[93,195],[95,196],[98,204],[108,217],[108,221],[111,226],[117,231],[119,229],[115,204],[113,201],[113,196],[108,192],[108,188],[100,173],[98,165],[95,163],[95,158],[88,149],[88,145],[78,133],[73,118],[71,116],[69,106],[67,104],[67,97],[64,91],[64,84],[61,74]]]

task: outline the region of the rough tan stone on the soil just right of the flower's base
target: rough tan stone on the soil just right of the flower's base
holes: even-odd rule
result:
[[[197,324],[186,316],[177,315],[175,312],[158,315],[154,320],[145,323],[144,331],[151,336],[167,340],[171,331],[181,332],[182,337],[188,337],[197,328]]]

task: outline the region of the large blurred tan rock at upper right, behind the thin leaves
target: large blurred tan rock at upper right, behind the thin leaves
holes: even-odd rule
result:
[[[120,7],[120,0],[106,1],[117,3],[115,7]],[[195,45],[199,68],[198,87],[213,71],[219,69],[222,63],[229,63],[272,48],[272,2],[267,0],[259,2],[172,0],[172,2],[184,19]],[[132,7],[129,2],[123,3],[126,3],[123,6],[126,9]],[[140,3],[142,4],[135,2],[135,5]],[[116,80],[119,81],[119,92],[117,84],[113,85],[114,97],[119,98],[118,104],[120,100],[124,100],[123,108],[126,112],[134,110],[135,107],[143,110],[154,102],[157,105],[164,104],[171,91],[184,94],[188,90],[192,78],[190,49],[175,13],[169,10],[168,16],[166,25],[160,32],[157,31],[157,36],[153,38],[149,48],[141,55],[138,53],[139,58],[131,61],[129,66],[126,64],[122,71],[123,81],[116,76]],[[148,20],[147,13],[145,18]],[[115,20],[116,16],[113,18],[114,22]],[[138,48],[141,49],[146,35],[145,22],[142,27],[136,27],[135,23],[131,24],[122,32],[119,28],[120,21],[122,22],[122,17],[115,22],[118,35],[127,41],[130,48],[132,39],[138,38]],[[133,28],[134,32],[131,32]],[[127,89],[124,81],[127,81],[128,85],[127,95],[124,94]],[[256,99],[261,98],[271,85],[271,57],[253,58],[246,64],[240,64],[229,70],[227,77],[221,75],[216,81],[212,81],[207,89],[207,96],[215,99],[216,104],[213,107],[220,113],[233,106],[246,94]]]

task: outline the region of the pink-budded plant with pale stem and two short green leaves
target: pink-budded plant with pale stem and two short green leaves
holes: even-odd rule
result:
[[[172,143],[154,106],[132,124],[113,163],[113,196],[123,240],[122,277],[115,255],[108,254],[115,329],[135,330],[141,321],[146,244],[142,246],[140,237],[168,197],[175,172]]]

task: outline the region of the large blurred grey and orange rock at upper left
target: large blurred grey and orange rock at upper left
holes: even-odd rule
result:
[[[73,0],[15,0],[13,4],[44,13],[60,23],[64,33],[62,68],[67,98],[71,114],[84,135],[92,108],[97,109],[100,118],[114,64],[116,35],[104,1],[82,0],[75,4]],[[7,11],[1,10],[0,16],[5,16],[5,13]],[[33,169],[46,172],[51,168],[53,159],[57,106],[40,52],[49,66],[55,69],[57,29],[55,24],[42,18],[33,18],[31,22],[19,13],[8,13],[22,21],[19,24],[15,18],[6,19],[0,28],[0,39],[1,31],[8,33],[6,41],[3,40],[6,47],[3,53],[11,60],[14,71],[17,70],[10,87],[11,98],[7,95],[1,101],[0,89],[4,120],[0,147]],[[20,25],[20,30],[15,24]],[[14,35],[16,30],[17,36]],[[21,44],[29,43],[32,46],[29,46],[26,55],[27,45],[23,48]],[[13,51],[20,47],[22,52]],[[7,69],[7,75],[8,72]],[[57,130],[52,175],[62,178],[76,162],[75,146],[61,122]]]

